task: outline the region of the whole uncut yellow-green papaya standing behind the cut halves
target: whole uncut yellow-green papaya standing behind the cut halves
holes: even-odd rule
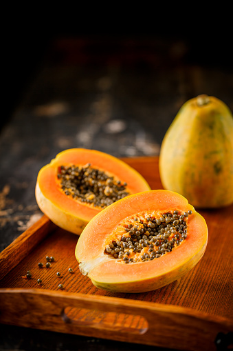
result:
[[[206,94],[181,106],[159,153],[163,188],[179,192],[195,208],[233,203],[233,116]]]

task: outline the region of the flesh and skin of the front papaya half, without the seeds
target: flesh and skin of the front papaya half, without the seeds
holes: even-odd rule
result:
[[[175,250],[152,261],[125,264],[104,254],[107,237],[126,217],[143,213],[192,210],[187,238]],[[93,285],[115,292],[147,292],[162,288],[184,276],[206,250],[208,228],[205,219],[180,194],[151,190],[126,197],[96,215],[83,230],[76,245],[76,259],[82,274]],[[94,248],[94,249],[93,249]]]

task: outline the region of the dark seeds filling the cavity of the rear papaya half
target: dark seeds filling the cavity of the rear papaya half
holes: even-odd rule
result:
[[[102,170],[85,166],[60,166],[60,187],[67,196],[95,207],[106,208],[111,203],[129,195],[126,183],[110,177]]]

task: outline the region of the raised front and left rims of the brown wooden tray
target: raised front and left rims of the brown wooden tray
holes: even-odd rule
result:
[[[25,230],[5,248],[0,254],[0,264],[3,268],[0,272],[1,279],[25,258],[21,245],[30,242],[31,246],[28,248],[32,251],[37,243],[43,241],[56,228],[58,227],[43,215],[32,227]],[[34,239],[35,237],[36,239]],[[9,261],[9,257],[11,258],[10,267],[5,264],[5,261]],[[17,260],[12,259],[12,257],[17,257]],[[33,308],[34,318],[27,313],[24,317],[27,301],[30,301],[30,308]],[[45,306],[48,306],[46,315],[43,312]],[[64,318],[65,308],[123,313],[126,316],[142,317],[148,328],[140,332],[139,330],[128,330],[122,326],[122,328],[118,327],[117,332],[115,332],[112,325],[102,325],[101,323],[83,325],[80,321],[70,321],[66,314]],[[15,310],[18,310],[18,315],[16,314],[12,320]],[[21,317],[20,311],[23,312],[23,317]],[[179,345],[181,350],[190,351],[197,350],[197,336],[198,342],[202,344],[200,351],[206,351],[212,350],[216,340],[221,340],[222,337],[227,338],[233,332],[233,319],[192,308],[150,301],[137,301],[135,303],[134,299],[36,288],[0,288],[0,323],[165,348],[169,346],[173,349]],[[168,334],[175,332],[175,339],[167,341],[164,338],[164,331]]]

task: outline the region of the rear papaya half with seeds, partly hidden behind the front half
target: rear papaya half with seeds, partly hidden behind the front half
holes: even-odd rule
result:
[[[136,170],[98,150],[60,152],[38,172],[38,207],[60,228],[80,234],[98,212],[114,201],[151,190]]]

